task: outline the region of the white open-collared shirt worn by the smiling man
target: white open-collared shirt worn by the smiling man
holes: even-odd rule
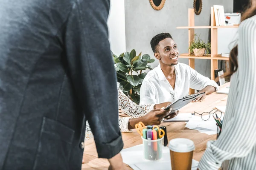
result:
[[[140,105],[175,102],[189,95],[189,88],[202,90],[211,85],[218,90],[218,85],[204,77],[189,65],[178,63],[175,67],[176,81],[173,89],[158,65],[149,71],[140,88]]]

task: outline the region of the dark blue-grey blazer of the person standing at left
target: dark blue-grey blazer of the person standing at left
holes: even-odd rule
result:
[[[79,170],[123,147],[109,0],[0,0],[0,170]]]

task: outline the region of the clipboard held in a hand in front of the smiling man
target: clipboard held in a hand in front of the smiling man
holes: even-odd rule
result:
[[[164,118],[168,117],[170,114],[174,113],[175,111],[177,111],[180,108],[184,107],[185,105],[189,104],[190,102],[197,99],[198,97],[203,96],[204,94],[205,94],[205,92],[200,93],[200,94],[192,94],[189,96],[185,96],[181,99],[178,99],[176,102],[172,103],[171,105],[169,105],[163,109],[163,110],[166,110],[168,108],[172,108],[172,111],[168,115],[164,116]]]

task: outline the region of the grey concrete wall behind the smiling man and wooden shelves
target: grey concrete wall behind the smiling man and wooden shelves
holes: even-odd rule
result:
[[[233,0],[204,0],[200,15],[195,15],[195,26],[210,24],[210,7],[223,5],[225,12],[233,12]],[[135,49],[137,52],[154,57],[150,47],[150,40],[161,32],[169,32],[181,53],[188,52],[188,30],[176,29],[177,26],[188,26],[188,8],[193,8],[193,0],[166,0],[160,11],[155,11],[148,0],[125,0],[125,33],[126,50]],[[209,40],[209,29],[197,29],[201,39]],[[179,59],[188,64],[188,59]],[[158,65],[158,60],[152,67]],[[210,77],[210,60],[196,59],[195,70]]]

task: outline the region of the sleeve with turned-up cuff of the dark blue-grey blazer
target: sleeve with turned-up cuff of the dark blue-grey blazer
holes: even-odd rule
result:
[[[70,77],[100,158],[123,148],[118,127],[116,74],[108,41],[109,0],[77,0],[66,21]]]

